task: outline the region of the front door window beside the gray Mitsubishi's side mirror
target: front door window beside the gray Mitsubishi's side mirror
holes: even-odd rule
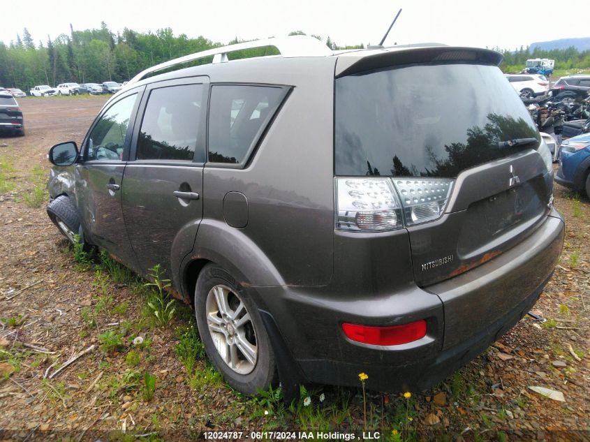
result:
[[[123,157],[127,126],[137,94],[117,101],[107,110],[90,133],[84,159],[117,161]]]

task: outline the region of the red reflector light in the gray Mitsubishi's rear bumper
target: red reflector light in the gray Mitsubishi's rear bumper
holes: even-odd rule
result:
[[[395,346],[418,341],[426,336],[426,321],[423,319],[404,325],[371,327],[369,325],[342,324],[348,339],[376,346]]]

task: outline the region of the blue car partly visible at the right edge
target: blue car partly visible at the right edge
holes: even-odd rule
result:
[[[575,191],[586,191],[590,198],[590,133],[561,143],[555,181]]]

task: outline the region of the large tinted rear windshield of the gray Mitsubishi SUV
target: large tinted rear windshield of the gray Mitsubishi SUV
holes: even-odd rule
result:
[[[456,177],[529,147],[536,126],[496,66],[406,66],[335,86],[336,175]]]

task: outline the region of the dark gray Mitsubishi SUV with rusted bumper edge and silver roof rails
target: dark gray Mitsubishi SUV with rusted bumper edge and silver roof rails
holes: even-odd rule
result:
[[[269,45],[281,56],[228,61]],[[241,392],[362,371],[425,388],[526,314],[563,244],[551,154],[500,61],[302,36],[169,61],[80,152],[52,147],[47,212],[140,274],[168,269]]]

